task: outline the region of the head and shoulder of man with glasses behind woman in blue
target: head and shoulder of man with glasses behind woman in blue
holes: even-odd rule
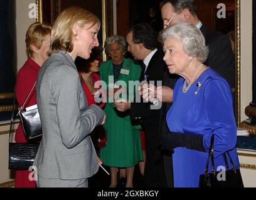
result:
[[[225,34],[208,29],[201,23],[196,14],[195,1],[165,0],[161,4],[161,14],[164,28],[181,21],[189,22],[201,30],[210,50],[205,64],[225,78],[230,88],[233,88],[235,65],[230,41]]]

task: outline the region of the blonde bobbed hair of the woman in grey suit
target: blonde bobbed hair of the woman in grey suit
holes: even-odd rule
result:
[[[100,26],[99,18],[83,8],[72,6],[65,9],[60,13],[53,24],[51,31],[51,47],[48,54],[58,53],[60,50],[72,52],[73,41],[75,39],[75,35],[72,31],[73,27],[75,25],[83,27],[85,24],[90,24],[90,27],[88,27],[88,29],[90,29],[96,23]]]

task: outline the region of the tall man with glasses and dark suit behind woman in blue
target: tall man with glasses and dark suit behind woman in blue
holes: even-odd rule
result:
[[[165,0],[161,3],[161,14],[163,18],[164,29],[175,22],[189,22],[201,30],[205,36],[206,46],[209,47],[209,56],[206,65],[210,66],[227,80],[231,88],[235,86],[235,62],[232,54],[232,48],[227,36],[220,32],[212,31],[201,23],[196,15],[196,4],[194,0]],[[161,98],[162,109],[159,121],[159,136],[163,140],[168,136],[169,129],[166,124],[166,113],[171,108],[173,102],[173,88],[175,79],[166,75],[163,87],[148,86],[152,91],[144,93],[144,98],[149,101],[157,96]],[[172,152],[168,149],[162,149],[164,154],[164,169],[168,187],[173,187],[172,173]]]

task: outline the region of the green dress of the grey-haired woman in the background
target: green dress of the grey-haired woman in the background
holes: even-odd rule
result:
[[[137,86],[129,88],[129,81],[138,81],[141,74],[141,67],[134,64],[129,59],[124,59],[120,76],[115,84],[126,84],[127,91],[135,91]],[[100,79],[106,85],[102,88],[109,89],[109,84],[114,83],[114,73],[112,60],[100,64]],[[122,82],[124,81],[124,82]],[[120,83],[120,84],[119,84]],[[127,92],[120,98],[133,100],[134,95]],[[111,167],[129,168],[143,160],[141,149],[141,134],[136,126],[132,126],[130,111],[124,113],[117,111],[113,104],[113,99],[107,98],[105,106],[107,116],[104,129],[107,135],[105,147],[100,149],[100,159]]]

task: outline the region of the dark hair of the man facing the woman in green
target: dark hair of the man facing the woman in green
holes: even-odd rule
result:
[[[158,34],[149,24],[136,24],[127,31],[127,33],[129,32],[132,32],[132,41],[134,44],[142,43],[146,49],[156,49],[158,45]]]

